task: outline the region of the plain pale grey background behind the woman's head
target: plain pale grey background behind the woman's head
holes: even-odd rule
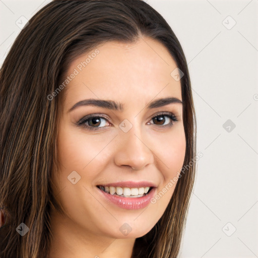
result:
[[[20,17],[29,20],[49,2],[0,0],[0,65],[21,30]],[[180,257],[258,257],[258,1],[146,2],[183,47],[197,112],[197,149],[204,155]]]

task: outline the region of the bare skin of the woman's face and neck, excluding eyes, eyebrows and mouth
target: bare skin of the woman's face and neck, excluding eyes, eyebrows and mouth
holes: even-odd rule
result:
[[[108,204],[96,185],[148,180],[157,184],[158,193],[179,176],[183,166],[182,104],[146,107],[159,98],[182,100],[180,81],[170,76],[177,66],[167,49],[148,37],[134,44],[107,42],[97,49],[99,54],[67,86],[63,102],[57,139],[61,167],[53,180],[55,196],[67,215],[53,212],[50,257],[130,258],[135,239],[161,218],[176,183],[155,204],[139,210]],[[67,76],[88,55],[75,59]],[[124,110],[79,106],[69,112],[74,104],[89,98],[120,102]],[[161,111],[173,112],[178,121],[165,116],[163,123],[173,125],[162,127],[162,122],[152,119]],[[96,113],[106,115],[110,122],[102,118],[95,131],[76,125],[84,116]],[[124,119],[133,125],[127,133],[119,128]],[[81,176],[76,184],[68,180],[74,170]],[[132,228],[127,236],[119,230],[124,223]]]

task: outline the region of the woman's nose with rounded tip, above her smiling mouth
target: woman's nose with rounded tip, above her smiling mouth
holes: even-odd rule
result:
[[[141,170],[154,162],[153,152],[146,137],[143,139],[134,126],[127,133],[120,133],[114,157],[117,166],[129,166],[134,170]]]

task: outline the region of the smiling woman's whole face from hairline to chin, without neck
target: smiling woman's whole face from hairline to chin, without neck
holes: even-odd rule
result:
[[[182,103],[155,104],[182,101],[176,67],[167,49],[147,37],[107,42],[70,64],[57,139],[61,167],[54,175],[67,227],[88,236],[137,238],[161,218],[185,156]],[[116,105],[86,105],[89,99]],[[117,193],[97,187],[110,184],[106,190]],[[119,197],[148,185],[153,189],[145,197]]]

